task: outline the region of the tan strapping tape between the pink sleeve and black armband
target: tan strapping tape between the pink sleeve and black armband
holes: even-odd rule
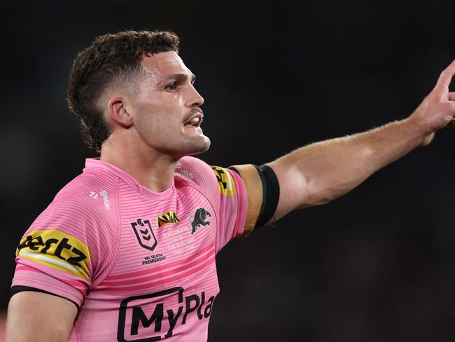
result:
[[[260,207],[264,193],[262,192],[262,181],[258,170],[254,165],[233,165],[239,171],[241,179],[243,179],[246,189],[246,196],[248,197],[248,211],[246,212],[246,222],[244,233],[242,236],[247,236],[258,221],[260,214]]]

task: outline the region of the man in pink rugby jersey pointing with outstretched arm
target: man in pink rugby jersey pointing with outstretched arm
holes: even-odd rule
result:
[[[327,203],[451,125],[455,62],[402,121],[256,167],[209,167],[203,98],[172,32],[101,36],[69,106],[100,152],[20,241],[6,341],[206,341],[214,257],[291,210]]]

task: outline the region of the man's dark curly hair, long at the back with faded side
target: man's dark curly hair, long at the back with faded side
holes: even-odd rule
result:
[[[97,152],[111,134],[97,102],[113,83],[134,81],[141,60],[155,53],[179,53],[179,37],[171,31],[124,31],[105,34],[78,53],[68,82],[68,107],[76,114],[85,144]]]

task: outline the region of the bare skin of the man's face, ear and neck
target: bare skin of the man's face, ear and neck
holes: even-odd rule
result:
[[[112,134],[102,145],[101,160],[120,167],[139,184],[165,191],[177,160],[207,151],[210,139],[188,120],[201,116],[204,103],[195,76],[176,53],[144,57],[144,77],[134,93],[118,90],[105,104]]]

